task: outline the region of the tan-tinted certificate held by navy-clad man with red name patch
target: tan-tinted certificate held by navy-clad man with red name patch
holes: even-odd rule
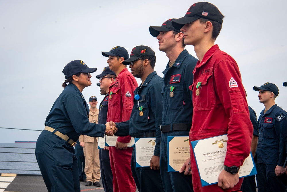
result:
[[[167,136],[168,172],[178,172],[189,157],[189,136]]]

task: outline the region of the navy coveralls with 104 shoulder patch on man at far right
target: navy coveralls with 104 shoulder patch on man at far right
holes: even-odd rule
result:
[[[257,186],[258,191],[284,191],[287,175],[276,176],[276,166],[284,166],[287,142],[287,113],[273,105],[265,114],[261,111],[257,145]],[[284,185],[285,184],[285,185]]]

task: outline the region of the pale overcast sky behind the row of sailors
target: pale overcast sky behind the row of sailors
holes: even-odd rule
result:
[[[287,87],[282,85],[287,81],[287,1],[209,2],[225,15],[216,43],[237,61],[248,104],[257,118],[264,106],[252,88],[265,82],[278,86],[275,101],[287,110]],[[157,57],[155,70],[163,76],[168,58],[158,50],[149,26],[183,17],[193,3],[196,1],[0,0],[0,127],[43,130],[46,116],[63,90],[62,70],[71,60],[81,59],[98,68],[83,95],[86,101],[95,95],[100,103],[103,96],[95,75],[107,66],[101,52],[115,46],[125,47],[129,53],[137,45],[151,47]],[[186,49],[196,57],[193,46]],[[40,134],[7,129],[0,133],[0,143],[37,140]]]

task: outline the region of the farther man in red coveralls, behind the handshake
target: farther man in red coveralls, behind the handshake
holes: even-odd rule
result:
[[[134,90],[138,87],[135,77],[127,70],[123,61],[129,58],[124,47],[113,47],[109,52],[102,52],[108,57],[110,70],[117,75],[110,85],[107,122],[129,120],[133,109]],[[133,148],[127,147],[131,136],[118,137],[115,147],[109,147],[110,164],[113,172],[114,192],[134,192],[135,180],[131,172],[131,155]]]

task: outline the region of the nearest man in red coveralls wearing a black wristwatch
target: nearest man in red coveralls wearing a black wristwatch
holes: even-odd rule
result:
[[[187,168],[185,174],[192,172],[194,191],[239,191],[243,182],[238,176],[239,166],[250,154],[253,126],[241,74],[235,60],[214,45],[223,17],[214,5],[200,2],[191,5],[183,18],[172,21],[174,28],[183,32],[184,43],[194,46],[199,59],[189,87],[193,91],[189,140],[228,136],[224,170],[219,174],[218,184],[202,187],[191,148],[191,161],[188,159],[183,168]]]

